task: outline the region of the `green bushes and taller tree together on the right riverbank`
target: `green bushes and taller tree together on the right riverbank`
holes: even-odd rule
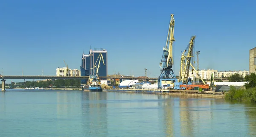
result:
[[[256,74],[247,75],[245,81],[248,81],[244,84],[245,89],[230,86],[230,91],[225,95],[225,99],[256,102]]]

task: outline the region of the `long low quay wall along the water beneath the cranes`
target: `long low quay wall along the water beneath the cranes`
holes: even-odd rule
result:
[[[103,89],[103,92],[129,92],[129,93],[143,93],[143,94],[161,94],[161,95],[176,95],[176,96],[188,96],[188,97],[200,97],[200,98],[224,98],[225,92],[213,92],[198,90],[174,90],[174,89],[125,89],[125,88],[109,88]]]

